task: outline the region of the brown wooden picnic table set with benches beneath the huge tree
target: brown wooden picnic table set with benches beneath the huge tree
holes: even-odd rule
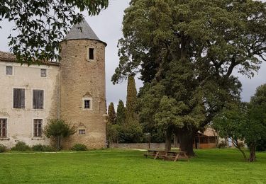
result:
[[[154,159],[162,158],[164,160],[170,159],[177,161],[179,159],[187,159],[189,161],[189,156],[187,156],[186,151],[164,151],[164,150],[151,150],[148,149],[147,154],[143,154],[146,158],[152,156]]]

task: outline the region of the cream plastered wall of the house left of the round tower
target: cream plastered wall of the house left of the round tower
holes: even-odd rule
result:
[[[6,75],[6,66],[13,67],[13,75]],[[40,69],[47,69],[47,77],[40,77]],[[50,118],[59,117],[58,66],[28,65],[0,62],[0,118],[7,118],[7,138],[0,144],[8,147],[18,141],[26,144],[50,144],[46,137],[33,137],[33,119],[43,119],[43,127]],[[13,109],[13,88],[25,88],[25,109]],[[33,89],[44,90],[44,109],[33,109]],[[43,135],[44,136],[44,135]]]

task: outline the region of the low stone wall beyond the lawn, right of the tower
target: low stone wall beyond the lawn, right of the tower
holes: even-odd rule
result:
[[[172,145],[173,146],[173,145]],[[119,149],[165,149],[165,143],[113,143],[110,148]]]

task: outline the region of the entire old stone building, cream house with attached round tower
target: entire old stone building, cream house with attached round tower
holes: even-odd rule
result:
[[[0,52],[0,144],[50,144],[43,127],[49,119],[61,118],[77,129],[64,148],[76,143],[105,146],[106,43],[83,21],[60,45],[60,63],[29,67]]]

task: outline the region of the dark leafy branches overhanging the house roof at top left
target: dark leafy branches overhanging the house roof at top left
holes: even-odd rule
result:
[[[9,46],[18,62],[40,64],[59,59],[59,42],[72,25],[84,18],[77,9],[96,15],[108,3],[108,0],[2,0],[0,22],[6,19],[16,24],[12,29],[13,34],[9,35]]]

